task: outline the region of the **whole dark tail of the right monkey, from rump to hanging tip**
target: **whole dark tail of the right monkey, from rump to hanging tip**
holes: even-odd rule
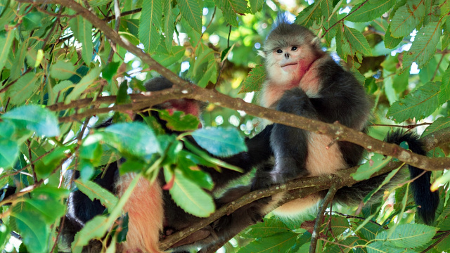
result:
[[[409,150],[413,153],[426,155],[426,151],[423,149],[423,143],[416,134],[393,131],[392,133],[387,134],[385,141],[397,145],[406,142],[409,145]],[[422,176],[418,177],[423,173],[423,169],[411,165],[408,165],[408,167],[411,179],[414,179],[411,183],[413,197],[416,201],[416,205],[420,206],[417,209],[417,214],[426,224],[430,224],[435,220],[435,212],[439,205],[439,193],[430,190],[431,171],[426,171]],[[361,201],[373,189],[378,188],[378,186],[383,183],[386,176],[387,174],[375,176],[371,179],[355,183],[351,187],[342,188],[336,193],[335,200],[346,204],[357,204],[356,202]],[[391,179],[391,182],[384,186],[384,188],[390,188],[390,186],[396,184],[397,181],[401,180],[400,177],[401,174],[394,177],[394,179]],[[383,189],[378,190],[378,194],[373,195],[372,199],[377,199],[378,197],[381,197],[381,195],[383,195]]]

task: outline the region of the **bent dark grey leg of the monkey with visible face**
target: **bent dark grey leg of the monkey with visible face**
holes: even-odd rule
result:
[[[285,91],[276,110],[316,119],[316,110],[302,89]],[[271,148],[274,150],[275,166],[271,171],[274,183],[284,183],[299,176],[307,176],[309,132],[292,126],[275,124],[272,129]]]

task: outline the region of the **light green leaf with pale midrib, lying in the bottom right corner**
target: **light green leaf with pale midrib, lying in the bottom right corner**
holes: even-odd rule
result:
[[[423,224],[400,224],[394,231],[378,233],[376,240],[383,240],[392,247],[415,248],[427,244],[437,230],[438,228]]]

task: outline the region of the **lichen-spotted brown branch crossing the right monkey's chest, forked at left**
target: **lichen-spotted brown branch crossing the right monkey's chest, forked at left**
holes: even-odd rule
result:
[[[97,27],[99,30],[103,31],[106,37],[113,39],[118,45],[127,49],[127,51],[133,53],[135,56],[141,58],[143,63],[148,64],[148,66],[151,69],[156,70],[157,72],[162,74],[162,76],[166,77],[167,79],[169,79],[170,82],[174,84],[172,89],[169,89],[167,93],[165,93],[167,97],[161,96],[156,98],[155,96],[151,96],[151,99],[145,100],[141,103],[131,103],[131,110],[142,110],[143,108],[150,107],[151,105],[161,103],[163,100],[168,99],[192,98],[195,100],[214,103],[216,105],[231,108],[233,110],[244,110],[248,115],[269,119],[271,120],[271,122],[274,123],[285,124],[287,126],[294,126],[307,131],[315,132],[316,134],[326,134],[327,136],[332,137],[335,141],[348,141],[351,143],[355,143],[357,145],[361,145],[368,151],[396,157],[398,160],[411,164],[420,169],[442,170],[450,167],[450,158],[448,157],[430,158],[421,155],[416,155],[410,153],[407,150],[404,150],[403,148],[400,148],[398,145],[378,141],[375,138],[367,136],[366,134],[363,134],[359,131],[349,129],[348,127],[342,126],[341,124],[338,123],[326,124],[314,119],[308,119],[297,115],[290,115],[285,112],[278,112],[275,110],[262,108],[258,105],[245,103],[242,99],[230,98],[229,96],[218,93],[216,91],[202,89],[199,86],[195,86],[181,79],[170,70],[167,70],[167,68],[157,63],[155,60],[153,60],[153,58],[151,58],[148,54],[144,53],[140,48],[137,48],[133,44],[129,43],[127,39],[120,37],[120,35],[117,34],[117,32],[115,32],[106,24],[106,22],[99,19],[96,15],[91,13],[83,6],[77,4],[77,2],[75,1],[69,0],[34,0],[34,1],[19,0],[19,1],[30,4],[44,4],[44,3],[61,4],[63,6],[71,8],[72,10],[76,11],[79,15],[82,15],[83,18],[89,20],[89,22],[91,22],[92,25]],[[173,93],[169,94],[169,92]],[[86,110],[85,112],[80,113],[78,115],[72,115],[71,118],[80,119],[82,117],[94,115],[95,113],[105,113],[111,110],[123,112],[125,110],[130,110],[130,108],[127,107],[127,105],[115,105],[112,108],[91,109]],[[73,119],[62,118],[62,120],[64,121],[70,121]]]

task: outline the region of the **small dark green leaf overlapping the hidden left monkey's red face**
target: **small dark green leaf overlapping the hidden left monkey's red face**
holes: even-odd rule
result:
[[[189,131],[198,129],[200,121],[197,117],[184,112],[174,111],[167,112],[167,110],[159,111],[160,118],[167,122],[167,127],[174,131]]]

